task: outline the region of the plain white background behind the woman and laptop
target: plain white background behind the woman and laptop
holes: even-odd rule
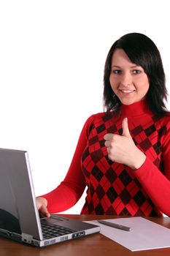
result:
[[[116,39],[150,37],[170,90],[168,4],[0,0],[0,147],[28,151],[36,195],[60,184],[85,120],[103,110],[104,62]],[[66,213],[79,214],[84,197]]]

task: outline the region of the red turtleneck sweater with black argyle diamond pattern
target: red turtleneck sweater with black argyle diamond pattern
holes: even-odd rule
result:
[[[108,159],[107,133],[122,134],[123,118],[134,143],[146,154],[142,167],[131,170]],[[170,118],[157,118],[146,102],[122,105],[120,117],[97,113],[85,122],[66,178],[43,195],[50,212],[74,206],[87,187],[81,214],[170,216]]]

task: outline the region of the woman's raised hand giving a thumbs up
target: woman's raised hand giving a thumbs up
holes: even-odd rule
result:
[[[104,135],[105,146],[108,157],[114,162],[131,167],[136,170],[141,167],[146,159],[145,154],[136,147],[128,129],[128,118],[122,122],[123,134],[115,135],[107,133]]]

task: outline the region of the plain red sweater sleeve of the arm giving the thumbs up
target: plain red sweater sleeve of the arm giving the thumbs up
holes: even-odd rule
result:
[[[155,206],[170,217],[170,129],[163,138],[162,146],[163,173],[147,157],[134,174]]]

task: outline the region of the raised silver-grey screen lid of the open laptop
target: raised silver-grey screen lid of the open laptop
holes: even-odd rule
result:
[[[0,148],[0,228],[42,240],[27,151]]]

